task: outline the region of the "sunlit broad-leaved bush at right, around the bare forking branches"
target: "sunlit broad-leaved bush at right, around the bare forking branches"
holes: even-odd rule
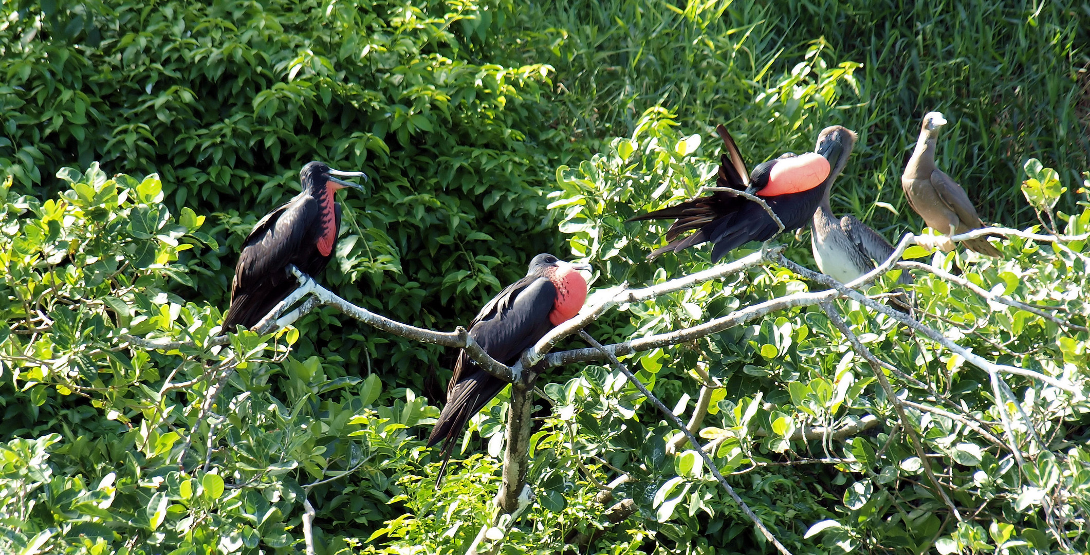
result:
[[[683,136],[675,128],[671,113],[649,110],[631,136],[615,138],[578,169],[557,170],[561,191],[552,196],[553,206],[565,209],[560,229],[570,234],[572,254],[605,268],[606,283],[658,283],[710,266],[707,248],[645,262],[644,253],[659,244],[668,222],[644,230],[647,224],[622,221],[632,210],[690,197],[715,171],[716,158],[697,147],[700,135]],[[856,164],[849,162],[848,172]],[[1026,171],[1027,198],[1042,213],[1051,210],[1064,192],[1058,174],[1038,160],[1030,160]],[[1090,179],[1083,186],[1090,186]],[[1090,203],[1078,204],[1079,214],[1056,217],[1057,232],[1085,237],[1090,231]],[[779,240],[794,243],[790,236]],[[1090,314],[1087,242],[1013,237],[1004,243],[1002,260],[968,251],[929,253],[920,246],[910,248],[906,258],[946,273],[960,268],[970,283],[1045,307],[1071,318],[1070,325],[989,301],[933,273],[916,274],[918,315],[998,364],[1069,381],[1074,394],[1006,374],[1010,391],[996,399],[983,370],[885,315],[840,301],[855,333],[892,364],[888,378],[897,395],[912,403],[909,418],[927,461],[917,457],[870,367],[818,306],[790,309],[703,340],[640,353],[631,363],[638,363],[641,381],[676,407],[675,413],[690,411],[701,384],[722,384],[700,432],[708,441],[704,448],[724,473],[736,475],[732,482],[742,498],[792,550],[1049,553],[1064,551],[1052,531],[1061,530],[1069,534],[1065,541],[1073,542],[1071,548],[1082,551],[1087,535],[1080,519],[1090,491],[1090,449],[1083,437],[1090,409],[1083,377],[1090,335],[1082,326]],[[804,244],[788,250],[800,258],[806,251]],[[744,254],[739,249],[729,256]],[[623,341],[679,329],[810,287],[786,268],[765,266],[630,304],[594,335]],[[889,287],[893,281],[872,292]],[[568,425],[567,434],[554,441],[573,457],[597,457],[600,464],[590,471],[597,483],[627,473],[629,481],[614,495],[635,500],[641,510],[633,519],[658,545],[674,546],[667,550],[703,545],[734,552],[738,542],[761,543],[693,451],[683,446],[676,455],[661,450],[675,432],[654,408],[626,402],[631,389],[618,389],[618,375],[590,365],[564,388],[546,387],[556,403],[554,417]],[[664,388],[664,383],[673,387]],[[790,439],[804,429],[850,430],[865,415],[877,417],[877,426]],[[1008,430],[1019,445],[1017,455],[1007,443]],[[930,491],[923,464],[932,466],[962,512],[971,508],[972,520],[953,519]],[[750,533],[752,539],[739,538]],[[604,548],[608,539],[597,545]]]

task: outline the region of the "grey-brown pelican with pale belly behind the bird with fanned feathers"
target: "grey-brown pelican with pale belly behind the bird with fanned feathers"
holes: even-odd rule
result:
[[[822,274],[847,283],[874,269],[893,254],[893,245],[885,238],[868,227],[859,218],[848,215],[837,219],[829,205],[829,192],[836,178],[848,164],[848,156],[856,144],[856,133],[841,125],[825,128],[818,135],[818,146],[827,141],[840,144],[839,158],[835,160],[828,176],[825,193],[814,210],[813,228],[810,232],[810,246],[813,249],[814,261]],[[912,282],[907,270],[903,270],[899,281],[904,285]],[[911,301],[904,291],[898,290],[897,297],[891,298],[891,306],[901,312],[911,312]]]

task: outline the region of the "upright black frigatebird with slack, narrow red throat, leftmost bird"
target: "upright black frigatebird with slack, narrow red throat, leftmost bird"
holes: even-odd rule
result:
[[[290,265],[311,277],[325,269],[340,231],[340,204],[334,201],[334,193],[346,186],[363,191],[363,186],[334,176],[366,179],[362,171],[338,171],[319,161],[308,162],[299,171],[303,191],[254,226],[234,266],[223,331],[234,331],[238,325],[253,327],[291,294],[299,281],[288,272]]]

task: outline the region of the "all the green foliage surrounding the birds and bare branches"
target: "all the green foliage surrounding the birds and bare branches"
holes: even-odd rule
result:
[[[602,288],[706,267],[702,250],[644,262],[662,229],[622,220],[710,181],[717,122],[752,162],[809,150],[831,123],[859,131],[834,210],[893,239],[922,226],[898,178],[919,118],[938,109],[952,120],[941,164],[985,220],[1031,225],[1031,206],[1045,218],[1055,206],[1059,230],[1082,233],[1090,212],[1073,183],[1090,168],[1088,29],[1085,3],[988,0],[3,3],[0,550],[294,552],[304,499],[318,553],[462,553],[473,541],[499,482],[506,407],[500,396],[474,420],[469,458],[456,455],[433,488],[421,424],[437,414],[451,351],[331,310],[205,347],[242,239],[294,194],[305,161],[372,178],[366,195],[340,197],[341,243],[322,281],[441,329],[543,250],[588,260]],[[1030,157],[1058,176],[1024,173]],[[801,237],[779,241],[806,264]],[[1085,325],[1083,242],[1013,239],[1002,261],[910,255]],[[1086,393],[1086,331],[917,279],[921,317],[948,337]],[[809,288],[770,265],[622,306],[591,331],[625,340]],[[1037,444],[985,373],[840,306],[901,372],[889,375],[898,395],[923,407],[911,418],[928,463],[971,521],[928,491],[889,399],[815,307],[628,362],[678,413],[706,381],[698,370],[726,385],[701,436],[797,553],[1046,553],[1059,548],[1051,528],[1088,548],[1085,399],[1012,376]],[[155,350],[129,335],[192,345]],[[615,371],[552,376],[532,442],[537,500],[508,553],[771,550],[693,451],[666,449],[669,427]],[[865,414],[879,425],[862,434],[787,439]],[[621,472],[614,497],[637,510],[613,526],[595,496]]]

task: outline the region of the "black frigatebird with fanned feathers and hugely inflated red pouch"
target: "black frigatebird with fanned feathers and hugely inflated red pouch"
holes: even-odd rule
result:
[[[834,142],[819,145],[816,153],[801,156],[786,154],[759,165],[750,174],[727,129],[723,125],[715,129],[726,148],[720,158],[716,184],[760,196],[784,224],[784,231],[804,226],[813,216],[827,185],[825,178],[829,173],[829,157],[838,155],[837,145]],[[652,251],[647,258],[711,241],[715,243],[712,262],[717,262],[731,250],[750,241],[767,241],[778,231],[776,222],[760,204],[728,191],[716,191],[708,196],[629,218],[628,221],[668,218],[677,218],[666,230],[668,243]],[[691,229],[698,231],[678,239]]]

